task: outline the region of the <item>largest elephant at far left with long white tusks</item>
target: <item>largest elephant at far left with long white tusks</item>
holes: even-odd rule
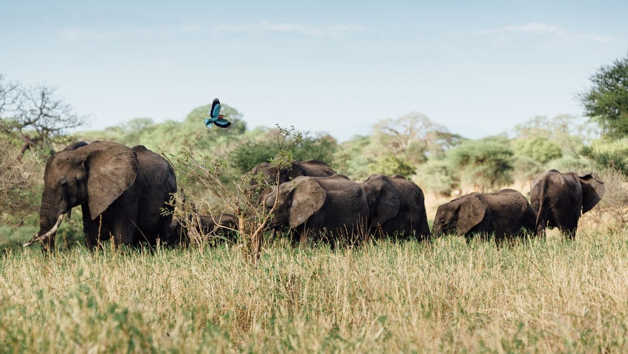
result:
[[[116,245],[154,245],[168,232],[172,216],[161,209],[173,210],[166,202],[175,191],[170,164],[144,146],[75,142],[48,158],[40,230],[31,243],[41,240],[52,250],[63,215],[80,205],[89,249],[111,236]]]

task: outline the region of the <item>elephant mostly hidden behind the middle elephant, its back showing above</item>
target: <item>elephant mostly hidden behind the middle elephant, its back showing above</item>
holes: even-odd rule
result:
[[[259,173],[263,174],[264,178],[262,181],[265,184],[273,184],[277,180],[277,168],[271,166],[270,163],[261,163],[255,166],[253,174],[257,175]],[[290,166],[281,169],[279,185],[294,180],[298,176],[328,177],[333,174],[335,174],[335,171],[328,164],[323,163],[323,161],[315,159],[306,161],[293,160]],[[251,185],[257,185],[256,178],[251,179]]]

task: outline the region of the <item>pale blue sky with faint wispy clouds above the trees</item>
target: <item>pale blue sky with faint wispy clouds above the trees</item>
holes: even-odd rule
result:
[[[344,140],[416,110],[479,137],[581,114],[575,92],[628,51],[627,13],[625,0],[3,0],[0,72],[58,85],[92,129],[219,97],[250,127]]]

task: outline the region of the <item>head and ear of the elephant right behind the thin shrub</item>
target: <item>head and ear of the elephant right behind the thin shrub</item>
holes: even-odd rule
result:
[[[279,188],[279,195],[276,191]],[[308,177],[297,177],[294,181],[282,183],[279,187],[268,188],[264,195],[264,207],[267,212],[273,208],[275,198],[277,205],[274,218],[269,227],[290,225],[295,228],[304,223],[325,203],[327,192]]]

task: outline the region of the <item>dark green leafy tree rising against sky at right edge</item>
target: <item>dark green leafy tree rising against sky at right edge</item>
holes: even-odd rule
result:
[[[589,80],[592,87],[578,94],[587,117],[604,136],[628,136],[628,55],[602,65]]]

